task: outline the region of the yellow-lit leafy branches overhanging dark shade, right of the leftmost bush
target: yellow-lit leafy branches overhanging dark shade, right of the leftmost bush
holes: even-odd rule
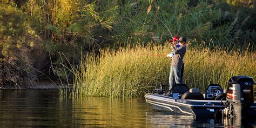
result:
[[[55,75],[65,76],[59,53],[73,64],[79,62],[79,51],[91,51],[100,46],[103,30],[112,28],[114,9],[98,12],[96,2],[89,1],[28,1],[24,10],[30,11],[33,23],[45,39],[44,49],[50,53]],[[105,16],[105,17],[102,17]],[[99,48],[99,47],[98,47]],[[66,60],[63,63],[67,63]],[[66,79],[66,78],[64,78]]]

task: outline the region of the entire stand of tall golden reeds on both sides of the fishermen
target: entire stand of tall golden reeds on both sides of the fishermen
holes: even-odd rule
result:
[[[133,97],[143,96],[159,83],[167,83],[171,59],[159,55],[169,53],[170,45],[137,45],[118,51],[104,50],[100,57],[82,59],[76,70],[74,93],[86,96]],[[209,50],[188,46],[185,55],[184,82],[204,91],[210,83],[224,88],[231,76],[254,73],[255,52]]]

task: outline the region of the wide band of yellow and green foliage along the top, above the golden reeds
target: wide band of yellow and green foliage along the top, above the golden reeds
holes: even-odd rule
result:
[[[196,0],[17,3],[35,17],[33,22],[43,37],[91,50],[109,43],[126,44],[127,38],[131,42],[138,39],[158,42],[174,35],[185,35],[199,42],[214,41],[217,45],[243,42],[247,46],[255,41],[255,28],[251,28],[255,26],[254,3],[233,2],[242,4]]]

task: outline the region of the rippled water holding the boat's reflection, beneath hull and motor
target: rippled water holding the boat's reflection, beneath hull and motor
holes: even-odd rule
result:
[[[152,127],[256,127],[256,119],[196,118],[176,113],[147,112],[146,124]]]

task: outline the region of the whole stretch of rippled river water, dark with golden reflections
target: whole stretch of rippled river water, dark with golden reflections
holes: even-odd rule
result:
[[[62,98],[59,91],[0,90],[0,127],[224,127],[256,120],[198,119],[150,109],[144,98]]]

